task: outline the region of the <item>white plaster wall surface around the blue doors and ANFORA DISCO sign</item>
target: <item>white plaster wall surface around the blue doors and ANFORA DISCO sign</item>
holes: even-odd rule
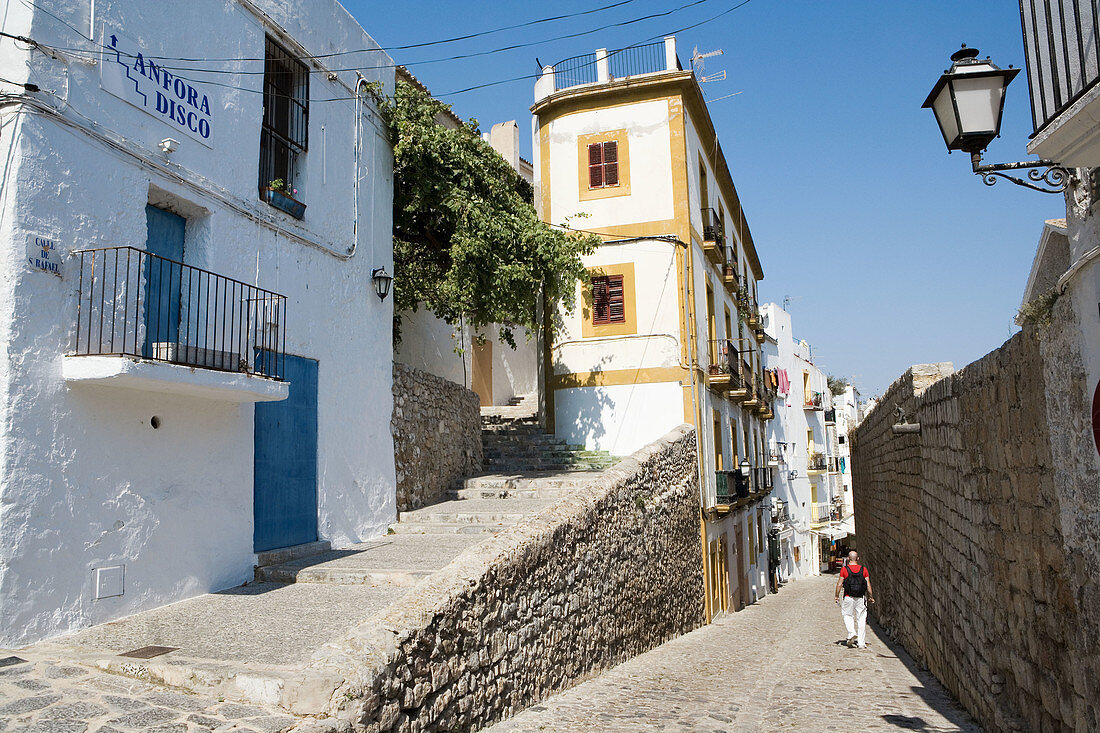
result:
[[[52,12],[88,28],[87,3],[55,4]],[[374,45],[330,0],[258,4],[307,48]],[[121,24],[150,54],[263,55],[265,28],[240,3],[153,8],[134,1],[106,12],[97,28]],[[72,44],[66,29],[45,15],[20,32]],[[7,42],[0,47],[12,53]],[[385,54],[370,58],[385,66],[378,61]],[[20,64],[64,90],[66,105],[57,107],[66,119],[96,120],[138,157],[47,114],[11,108],[2,114],[0,646],[239,584],[255,560],[252,405],[67,384],[62,364],[75,329],[78,270],[72,260],[62,278],[28,269],[29,234],[55,239],[64,254],[144,248],[145,205],[153,201],[188,218],[187,264],[286,295],[286,350],[319,361],[319,534],[338,547],[383,534],[396,516],[392,300],[373,294],[371,270],[393,271],[392,155],[377,113],[369,110],[362,124],[353,239],[350,102],[311,108],[298,182],[309,208],[299,223],[257,199],[262,96],[254,90],[262,76],[223,79],[251,90],[208,89],[218,121],[208,149],[102,91],[96,66],[63,65],[33,52]],[[364,72],[392,84],[389,68]],[[353,74],[340,77],[354,85]],[[342,85],[314,75],[314,98],[341,94]],[[168,162],[153,152],[166,136],[182,140]],[[322,251],[344,253],[353,241],[358,250],[348,260]],[[124,593],[96,600],[92,570],[114,565],[125,566]]]

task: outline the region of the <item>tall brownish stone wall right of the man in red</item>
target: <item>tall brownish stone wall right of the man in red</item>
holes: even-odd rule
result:
[[[872,613],[990,730],[1097,727],[1100,621],[1067,562],[1048,371],[1034,330],[954,374],[914,366],[853,439]],[[920,434],[893,435],[895,405]]]

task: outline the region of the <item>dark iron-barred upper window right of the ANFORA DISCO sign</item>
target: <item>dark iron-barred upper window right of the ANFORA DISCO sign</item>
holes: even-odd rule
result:
[[[309,142],[309,67],[267,36],[264,53],[264,117],[260,132],[260,187],[282,178],[297,182]]]

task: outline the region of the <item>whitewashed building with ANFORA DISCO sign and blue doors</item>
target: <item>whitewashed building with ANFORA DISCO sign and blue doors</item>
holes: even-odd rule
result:
[[[4,30],[32,42],[0,42],[0,646],[385,533],[393,158],[359,92],[386,54],[333,0]],[[362,77],[312,58],[351,50]]]

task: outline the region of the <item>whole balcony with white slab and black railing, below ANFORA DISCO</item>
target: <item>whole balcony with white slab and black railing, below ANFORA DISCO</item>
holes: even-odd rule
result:
[[[132,247],[81,250],[72,383],[285,400],[286,297]]]

